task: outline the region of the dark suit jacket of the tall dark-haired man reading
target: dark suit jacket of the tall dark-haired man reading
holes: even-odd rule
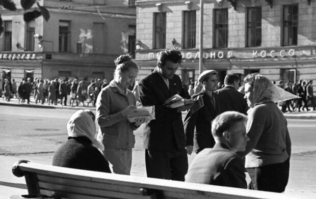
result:
[[[186,138],[183,130],[182,114],[175,108],[163,106],[164,101],[175,94],[190,98],[182,89],[181,79],[174,75],[169,79],[169,89],[156,70],[139,81],[139,94],[143,106],[155,106],[155,120],[146,123],[144,147],[154,151],[185,149]]]

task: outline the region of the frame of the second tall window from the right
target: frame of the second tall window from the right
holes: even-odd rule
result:
[[[256,20],[255,22],[253,21],[249,21],[249,11],[252,9],[257,9],[257,12],[260,11],[260,21]],[[257,15],[256,15],[257,17]],[[258,25],[259,23],[259,25]],[[252,24],[253,26],[249,27],[249,24]],[[256,41],[256,35],[255,37],[255,41],[254,44],[250,44],[251,42],[249,41],[249,30],[255,30],[255,33],[257,34],[257,29],[260,29],[260,45],[257,45],[257,41]],[[247,12],[246,12],[246,47],[259,47],[262,45],[262,7],[247,7]]]

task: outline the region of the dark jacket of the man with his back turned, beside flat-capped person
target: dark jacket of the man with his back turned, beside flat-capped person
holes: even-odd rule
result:
[[[237,91],[233,86],[225,86],[216,91],[218,94],[221,113],[229,110],[238,111],[247,115],[248,105],[244,94]]]

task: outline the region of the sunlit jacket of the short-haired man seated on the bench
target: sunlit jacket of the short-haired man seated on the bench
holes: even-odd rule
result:
[[[242,159],[224,144],[204,149],[193,159],[186,182],[247,188]]]

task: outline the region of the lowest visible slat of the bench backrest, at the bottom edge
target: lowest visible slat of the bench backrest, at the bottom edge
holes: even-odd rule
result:
[[[98,197],[113,197],[115,198],[131,198],[131,199],[138,199],[138,198],[150,198],[148,196],[142,196],[141,194],[133,194],[133,193],[123,193],[123,192],[116,192],[116,191],[109,191],[109,190],[101,190],[101,189],[93,189],[93,188],[85,188],[85,187],[76,187],[76,186],[67,186],[67,185],[60,185],[60,184],[53,184],[53,183],[46,183],[46,182],[39,182],[38,183],[40,189],[52,190],[58,193],[59,191],[66,192],[66,193],[77,193],[89,196],[98,196]],[[63,196],[57,194],[56,196]]]

